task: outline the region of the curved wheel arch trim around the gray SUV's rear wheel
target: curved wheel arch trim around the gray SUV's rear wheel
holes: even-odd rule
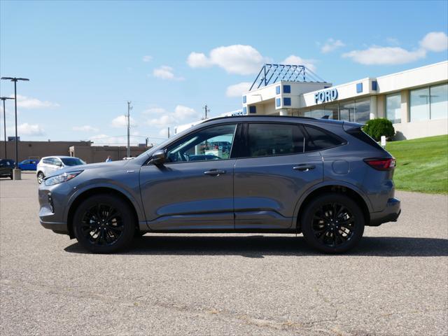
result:
[[[365,225],[369,225],[371,205],[370,202],[367,200],[367,197],[363,196],[360,190],[356,190],[356,188],[353,188],[351,186],[330,183],[324,186],[318,186],[313,190],[309,190],[309,193],[304,195],[304,197],[302,197],[302,199],[299,202],[297,202],[295,225],[298,231],[301,231],[300,220],[302,218],[304,209],[307,207],[309,202],[311,202],[311,200],[314,200],[314,198],[317,197],[318,195],[325,195],[326,193],[341,193],[343,195],[349,196],[352,200],[356,202],[356,204],[360,206],[360,209],[361,211],[363,211],[364,214]]]

